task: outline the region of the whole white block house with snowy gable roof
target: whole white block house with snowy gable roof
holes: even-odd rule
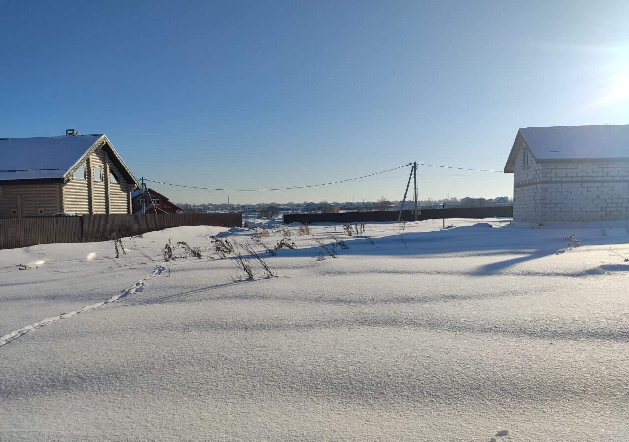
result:
[[[521,128],[504,166],[513,221],[629,218],[629,124]]]

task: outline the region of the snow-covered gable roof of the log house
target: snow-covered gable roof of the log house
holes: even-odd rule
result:
[[[66,182],[74,171],[103,147],[128,182],[138,185],[104,133],[91,135],[0,138],[0,182],[54,180]]]

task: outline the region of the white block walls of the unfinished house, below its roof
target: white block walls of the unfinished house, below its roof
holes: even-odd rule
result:
[[[629,218],[629,159],[601,163],[532,161],[523,167],[522,152],[513,173],[516,223]]]

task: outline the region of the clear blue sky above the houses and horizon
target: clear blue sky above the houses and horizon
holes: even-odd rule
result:
[[[0,136],[104,132],[136,177],[204,187],[413,160],[502,170],[520,127],[629,123],[628,17],[625,0],[6,1]],[[404,174],[153,187],[179,202],[401,199]],[[420,167],[420,197],[511,196],[511,180]]]

